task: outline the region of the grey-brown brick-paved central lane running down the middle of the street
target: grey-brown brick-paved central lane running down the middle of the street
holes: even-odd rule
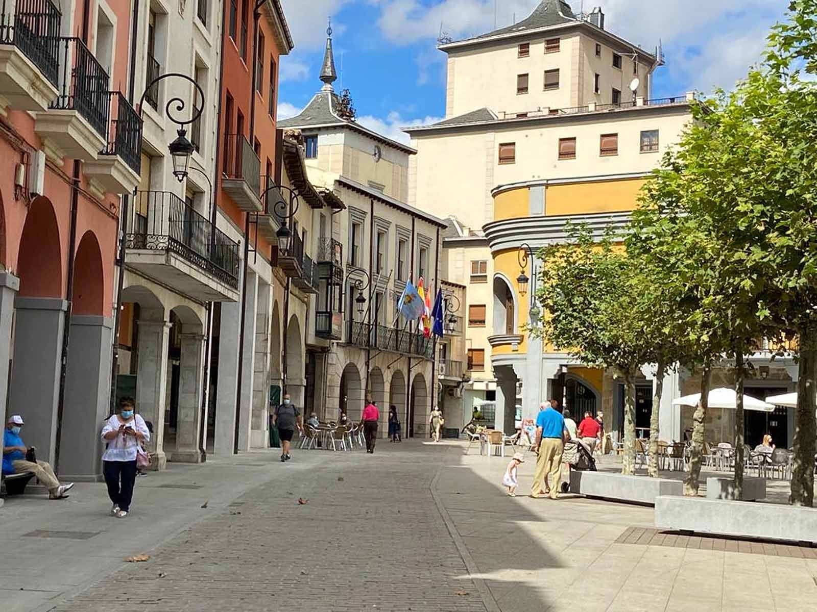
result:
[[[430,491],[458,447],[308,452],[321,455],[314,468],[293,469],[306,460],[294,452],[150,561],[123,563],[51,610],[486,610]]]

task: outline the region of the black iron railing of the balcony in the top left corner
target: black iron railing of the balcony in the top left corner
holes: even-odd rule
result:
[[[0,11],[0,45],[20,49],[51,85],[59,86],[60,10],[51,0],[2,0]]]

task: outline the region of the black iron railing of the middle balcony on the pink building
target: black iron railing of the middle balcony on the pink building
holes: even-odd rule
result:
[[[60,38],[60,94],[50,109],[75,110],[97,134],[108,138],[110,78],[80,38]]]

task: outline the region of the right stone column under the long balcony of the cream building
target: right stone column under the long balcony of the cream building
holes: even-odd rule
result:
[[[204,340],[201,334],[181,335],[179,406],[176,412],[176,448],[170,460],[199,463],[201,441]]]

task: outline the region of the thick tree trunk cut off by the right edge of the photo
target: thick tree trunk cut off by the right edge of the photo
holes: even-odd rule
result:
[[[795,506],[814,504],[815,492],[815,393],[817,393],[817,325],[800,330],[800,364],[797,370],[797,410],[794,412],[792,496]]]

